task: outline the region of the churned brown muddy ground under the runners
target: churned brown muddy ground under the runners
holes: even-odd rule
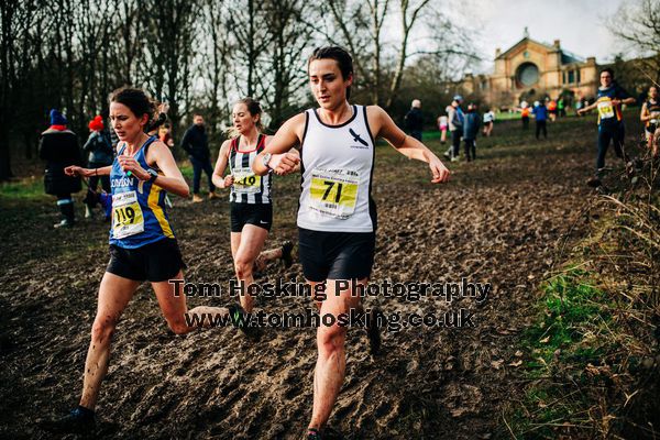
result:
[[[595,161],[593,118],[550,124],[537,142],[517,123],[497,123],[477,141],[479,160],[450,164],[453,179],[429,184],[424,164],[388,146],[376,153],[378,206],[373,282],[491,283],[487,300],[454,301],[475,314],[474,329],[384,332],[373,358],[364,332],[349,331],[346,380],[330,438],[507,438],[506,403],[519,398],[516,338],[532,319],[538,284],[561,249],[584,231],[584,185]],[[635,123],[628,133],[638,133]],[[629,135],[632,141],[632,135]],[[629,142],[632,144],[632,142]],[[441,151],[438,140],[429,144]],[[608,164],[615,165],[614,154]],[[295,240],[298,177],[275,187],[267,245]],[[78,195],[78,199],[81,194]],[[0,437],[51,438],[36,421],[77,405],[96,295],[108,261],[107,229],[82,220],[52,230],[50,198],[0,199]],[[78,204],[78,213],[82,208]],[[80,216],[81,217],[81,216]],[[222,200],[175,199],[170,218],[189,282],[227,285],[232,276],[229,216]],[[261,278],[301,276],[271,266]],[[190,298],[190,306],[224,305]],[[369,298],[385,314],[440,314],[439,298]],[[268,312],[311,307],[306,298],[258,298]],[[144,285],[117,330],[99,406],[99,437],[301,438],[311,413],[312,329],[267,329],[260,342],[231,328],[177,337]]]

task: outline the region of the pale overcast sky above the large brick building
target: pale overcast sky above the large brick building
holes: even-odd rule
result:
[[[609,62],[622,47],[605,26],[605,20],[623,1],[462,0],[462,24],[474,26],[474,42],[490,62],[475,66],[474,70],[488,72],[495,48],[506,51],[517,43],[522,38],[525,26],[532,40],[550,44],[560,40],[563,48],[576,55],[595,56],[597,63]]]

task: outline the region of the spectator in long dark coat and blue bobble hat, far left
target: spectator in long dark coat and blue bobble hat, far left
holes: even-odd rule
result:
[[[57,206],[63,219],[55,228],[72,227],[76,216],[72,193],[81,189],[80,177],[70,177],[64,174],[64,168],[69,165],[82,165],[78,136],[67,129],[67,120],[56,109],[51,110],[51,127],[40,138],[38,155],[46,161],[44,186],[46,194],[57,197]]]

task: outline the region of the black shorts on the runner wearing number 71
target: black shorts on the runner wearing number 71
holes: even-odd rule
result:
[[[298,255],[310,282],[369,278],[375,232],[323,232],[298,228]]]

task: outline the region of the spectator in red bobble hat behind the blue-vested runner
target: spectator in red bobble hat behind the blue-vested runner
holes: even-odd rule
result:
[[[112,165],[114,161],[114,151],[110,139],[108,139],[103,132],[103,118],[99,114],[89,121],[89,138],[82,146],[82,151],[88,154],[87,162],[88,168],[102,168],[103,166]],[[109,176],[91,176],[89,177],[89,190],[97,190],[99,180],[101,182],[101,188],[106,193],[110,193],[110,177]],[[92,217],[92,208],[96,204],[85,204],[85,218],[90,219]]]

